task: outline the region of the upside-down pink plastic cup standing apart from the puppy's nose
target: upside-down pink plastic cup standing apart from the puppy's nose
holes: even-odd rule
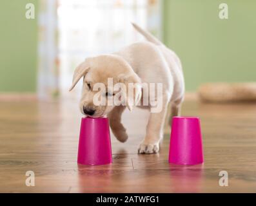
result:
[[[195,165],[204,162],[199,117],[173,117],[169,163]]]

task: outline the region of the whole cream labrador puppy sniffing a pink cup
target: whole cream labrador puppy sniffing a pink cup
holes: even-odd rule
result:
[[[166,48],[153,35],[136,24],[133,26],[148,41],[136,42],[109,55],[86,59],[75,69],[70,91],[83,77],[81,112],[90,117],[108,115],[112,132],[120,142],[125,142],[128,138],[126,129],[121,123],[124,109],[127,107],[132,110],[133,106],[152,109],[155,107],[153,105],[158,100],[157,98],[161,98],[161,109],[150,113],[146,136],[138,149],[139,153],[157,153],[163,135],[162,130],[168,104],[170,103],[172,109],[170,118],[180,114],[184,97],[182,66],[179,57],[172,50]],[[133,83],[136,85],[136,89],[133,89],[132,95],[127,93],[128,89],[121,89],[121,94],[125,93],[124,98],[121,95],[122,98],[118,97],[117,99],[121,100],[122,104],[108,104],[120,91],[120,89],[115,91],[113,85],[109,84],[109,79],[112,79],[113,85],[122,83],[126,88]],[[99,82],[106,87],[106,90],[103,89],[99,92],[99,87],[94,89]],[[161,84],[161,91],[157,91],[156,86],[154,88],[157,97],[151,98],[151,93],[144,92],[143,85],[149,86],[150,84]],[[105,98],[106,104],[95,105],[94,100],[97,95]],[[148,104],[143,104],[143,102],[148,102]]]

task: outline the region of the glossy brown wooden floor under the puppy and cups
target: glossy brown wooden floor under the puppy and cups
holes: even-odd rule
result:
[[[159,154],[137,154],[148,114],[126,112],[129,140],[112,135],[113,164],[77,165],[77,103],[0,103],[0,192],[256,192],[256,104],[185,102],[201,117],[203,165],[168,164],[170,128]],[[228,187],[219,172],[228,172]],[[25,185],[34,171],[35,187]]]

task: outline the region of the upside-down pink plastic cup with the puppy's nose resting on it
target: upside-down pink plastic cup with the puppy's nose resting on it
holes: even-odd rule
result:
[[[112,163],[112,149],[108,118],[81,119],[77,163],[104,165]]]

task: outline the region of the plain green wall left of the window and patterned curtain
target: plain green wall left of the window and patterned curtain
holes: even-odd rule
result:
[[[0,92],[35,92],[37,19],[26,19],[27,3],[37,8],[37,0],[0,2]]]

